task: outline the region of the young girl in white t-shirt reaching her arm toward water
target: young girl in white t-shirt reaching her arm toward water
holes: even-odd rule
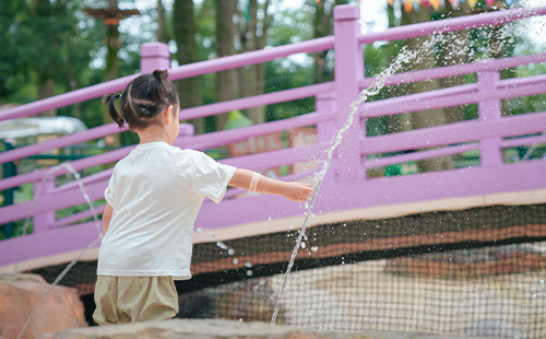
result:
[[[119,115],[115,101],[121,98]],[[174,280],[191,278],[193,223],[204,198],[218,203],[226,186],[305,201],[312,188],[216,163],[173,147],[180,104],[167,71],[131,81],[122,95],[103,97],[112,119],[140,144],[114,168],[105,191],[98,254],[98,325],[165,320],[178,313]]]

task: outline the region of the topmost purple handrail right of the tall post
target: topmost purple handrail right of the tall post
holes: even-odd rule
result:
[[[519,21],[525,17],[532,17],[546,14],[546,7],[534,9],[522,8],[509,11],[498,11],[487,14],[465,15],[460,17],[437,20],[417,25],[405,25],[390,28],[384,32],[369,33],[360,36],[360,44],[371,44],[382,40],[400,40],[411,37],[431,35],[437,33],[447,33],[477,28],[490,25],[500,25],[509,22]]]

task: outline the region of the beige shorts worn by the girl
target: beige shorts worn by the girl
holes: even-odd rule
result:
[[[173,277],[98,276],[93,319],[100,325],[168,320],[178,313]]]

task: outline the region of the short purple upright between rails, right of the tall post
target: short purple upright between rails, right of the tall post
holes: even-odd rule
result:
[[[495,91],[500,79],[499,71],[485,71],[477,74],[478,91]],[[498,98],[482,101],[478,103],[479,120],[500,119],[502,114],[501,103]],[[499,166],[503,162],[500,138],[482,139],[480,164],[482,166]]]

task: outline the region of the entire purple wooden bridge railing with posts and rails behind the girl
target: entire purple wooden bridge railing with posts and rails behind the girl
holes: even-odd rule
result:
[[[385,37],[401,38],[425,35],[429,33],[427,30],[462,30],[463,21],[466,21],[471,26],[486,25],[495,22],[500,22],[500,20],[505,22],[513,21],[518,19],[518,15],[520,15],[520,17],[523,17],[525,15],[530,15],[531,12],[533,12],[533,10],[514,10],[499,13],[488,13],[484,15],[474,15],[472,17],[466,16],[405,26],[402,28],[389,30],[389,32],[387,33],[360,36],[359,26],[356,23],[358,11],[353,7],[337,7],[334,9],[335,37],[327,37],[306,42],[302,44],[294,44],[240,56],[203,61],[180,67],[176,70],[171,70],[170,73],[170,79],[173,80],[182,79],[204,74],[212,71],[236,68],[244,65],[260,63],[273,60],[275,58],[285,57],[294,52],[318,51],[334,47],[336,54],[336,79],[334,83],[318,84],[284,92],[269,93],[259,97],[242,98],[228,103],[191,108],[183,110],[181,113],[181,118],[188,119],[190,117],[210,116],[230,109],[242,109],[256,105],[277,103],[299,97],[318,95],[319,100],[317,102],[316,114],[308,114],[294,119],[263,124],[245,129],[219,131],[216,133],[209,133],[185,139],[181,138],[178,139],[176,143],[177,145],[183,148],[205,150],[207,148],[240,141],[249,137],[262,136],[273,131],[286,130],[293,127],[317,125],[320,141],[318,144],[300,149],[288,149],[276,152],[229,159],[225,160],[224,162],[239,167],[261,170],[263,167],[276,167],[278,165],[292,164],[305,159],[320,159],[324,154],[322,150],[324,149],[327,141],[330,141],[332,136],[334,135],[334,131],[344,124],[349,112],[349,104],[357,97],[359,87],[366,85],[369,81],[371,81],[371,79],[363,79],[364,61],[361,58],[360,43],[366,43],[373,38],[384,39]],[[546,8],[538,9],[537,12],[545,13]],[[149,67],[150,70],[163,67],[168,68],[168,56],[165,52],[167,50],[166,46],[153,45],[151,49],[155,48],[155,51],[150,52],[149,55],[146,55],[146,48],[143,48],[143,70],[145,67]],[[146,56],[150,57],[150,61],[145,60]],[[505,67],[514,67],[529,62],[543,62],[545,58],[545,55],[515,57],[476,62],[460,67],[446,67],[435,70],[410,72],[405,74],[396,74],[392,79],[390,79],[388,83],[394,84],[419,81],[419,79],[423,80],[429,78],[442,78],[455,74],[482,72],[487,70],[498,70]],[[136,77],[136,74],[132,75],[132,78],[134,77]],[[90,95],[96,95],[95,97],[98,97],[106,92],[121,90],[129,81],[129,78],[119,79],[117,81],[108,82],[95,87],[74,91],[69,93],[70,95],[57,96],[55,98],[51,98],[51,101],[45,102],[47,105],[58,105],[56,107],[44,106],[44,101],[34,103],[34,106],[33,104],[24,105],[17,107],[19,110],[10,109],[8,112],[0,113],[0,120],[5,117],[28,116],[43,110],[58,108],[76,102],[86,101],[92,98],[90,97]],[[447,105],[462,105],[484,101],[491,101],[491,103],[499,102],[499,100],[501,98],[545,93],[545,83],[546,75],[539,75],[525,79],[498,81],[497,84],[489,82],[488,89],[479,84],[471,84],[453,87],[448,91],[441,90],[425,94],[408,95],[405,97],[365,104],[360,107],[363,108],[363,113],[360,114],[360,116],[368,118],[373,116],[385,116],[397,113],[438,108],[444,107]],[[118,86],[119,89],[114,90],[116,86]],[[332,95],[332,92],[334,92],[335,95]],[[74,95],[76,94],[79,100],[73,101]],[[329,97],[329,101],[321,101],[321,97]],[[71,100],[72,102],[70,102]],[[36,108],[38,107],[38,105],[39,108]],[[482,106],[484,106],[484,104],[482,104]],[[488,113],[491,113],[492,110],[494,109],[490,108],[486,109],[486,112]],[[487,116],[487,114],[482,114],[480,116],[485,117]],[[361,175],[361,173],[364,173],[364,168],[377,166],[378,164],[388,165],[394,162],[399,163],[408,160],[420,160],[425,156],[429,157],[453,154],[454,152],[458,153],[471,149],[477,149],[477,143],[454,145],[440,150],[430,150],[416,152],[413,154],[391,156],[388,159],[382,159],[376,163],[365,163],[364,166],[361,166],[360,163],[361,154],[367,155],[391,151],[415,150],[420,148],[450,145],[453,143],[472,141],[483,142],[482,140],[484,139],[496,140],[496,144],[491,147],[492,152],[489,154],[498,154],[498,152],[500,152],[500,149],[505,147],[522,144],[522,142],[544,141],[544,138],[542,137],[530,137],[519,140],[499,140],[499,138],[523,136],[546,130],[545,113],[527,114],[498,119],[487,118],[474,121],[462,121],[446,126],[431,127],[422,130],[413,130],[389,136],[371,137],[366,139],[364,139],[364,127],[358,127],[358,124],[360,124],[360,119],[358,118],[356,122],[357,127],[354,127],[352,130],[349,130],[349,132],[345,137],[343,145],[340,149],[341,152],[339,152],[337,155],[342,155],[342,157],[336,159],[340,160],[340,162],[335,163],[334,161],[333,163],[332,168],[340,172],[337,180],[333,179],[334,175],[332,172],[330,174],[332,176],[332,180],[324,182],[321,195],[317,200],[316,211],[319,213],[354,208],[388,206],[392,203],[427,201],[454,197],[472,197],[485,194],[519,191],[525,189],[538,189],[545,188],[546,186],[546,183],[544,183],[544,180],[536,179],[546,170],[545,161],[525,162],[520,164],[498,164],[497,162],[495,166],[479,166],[475,168],[453,170],[438,173],[424,173],[413,176],[369,178],[366,180],[364,180],[364,177]],[[335,127],[333,127],[334,124]],[[84,137],[71,136],[70,139],[60,138],[62,140],[56,141],[57,143],[31,147],[29,149],[23,150],[21,151],[21,153],[16,154],[21,155],[24,154],[24,152],[28,153],[28,150],[39,153],[41,151],[38,150],[44,147],[48,148],[45,148],[43,150],[51,149],[49,148],[51,145],[56,145],[52,148],[59,148],[59,144],[68,145],[71,143],[75,143],[75,140],[93,140],[117,131],[119,130],[117,130],[115,126],[105,126],[96,130],[91,130],[83,133]],[[64,144],[67,140],[69,140],[70,142]],[[29,153],[29,155],[36,154],[32,152]],[[117,161],[122,157],[123,154],[127,154],[127,152],[128,149],[108,152],[106,154],[102,154],[102,157],[90,157],[86,160],[82,160],[81,162],[73,162],[72,164],[75,164],[79,170],[83,170],[88,166],[97,165],[102,162]],[[9,159],[10,156],[13,156],[13,154],[14,153],[4,152],[3,154],[0,154],[0,160]],[[356,171],[353,171],[354,168],[356,168]],[[355,175],[355,172],[357,173],[357,175]],[[24,174],[21,175],[21,177],[23,178],[23,182],[33,182],[40,179],[44,174],[45,172],[41,171],[35,174]],[[85,179],[87,183],[86,189],[93,200],[103,198],[104,189],[107,185],[107,178],[109,174],[109,171],[105,171],[97,175],[90,176]],[[285,179],[287,178],[290,177],[285,177]],[[0,180],[0,189],[2,189],[2,187],[8,184],[12,185],[13,183],[21,183],[21,179],[19,179],[19,182],[17,179],[15,179],[15,182],[9,180],[10,179]],[[230,191],[229,196],[235,196],[237,194],[237,191]],[[84,199],[79,189],[76,189],[76,186],[74,184],[68,184],[57,188],[47,197],[38,197],[36,201],[36,211],[34,214],[46,213],[83,202]],[[26,202],[0,209],[0,223],[25,218],[26,213],[28,212],[28,208],[29,203]],[[251,210],[251,213],[237,212],[241,210]],[[198,218],[195,227],[201,226],[209,230],[214,230],[225,226],[238,225],[246,222],[264,221],[269,217],[286,218],[295,215],[302,215],[302,210],[299,209],[297,204],[281,197],[258,196],[248,197],[245,199],[227,199],[218,206],[207,201],[203,204],[203,210]],[[52,225],[59,227],[75,222],[80,220],[80,218],[85,217],[88,217],[88,212],[82,212],[69,218],[64,218],[62,220],[55,221]],[[95,230],[93,223],[84,223],[81,225],[59,227],[52,231],[32,234],[25,238],[23,246],[24,258],[22,259],[24,260],[34,257],[82,248],[97,237],[97,231],[99,230]],[[73,238],[78,238],[79,241],[74,242]],[[12,249],[10,252],[10,255],[0,256],[0,266],[13,262],[14,258],[12,256],[12,253],[16,253],[14,250],[15,247],[13,247],[13,244],[15,244],[15,242],[0,242],[2,252],[4,252],[4,249],[9,252],[10,248]],[[47,244],[47,246],[44,246],[44,244]]]

